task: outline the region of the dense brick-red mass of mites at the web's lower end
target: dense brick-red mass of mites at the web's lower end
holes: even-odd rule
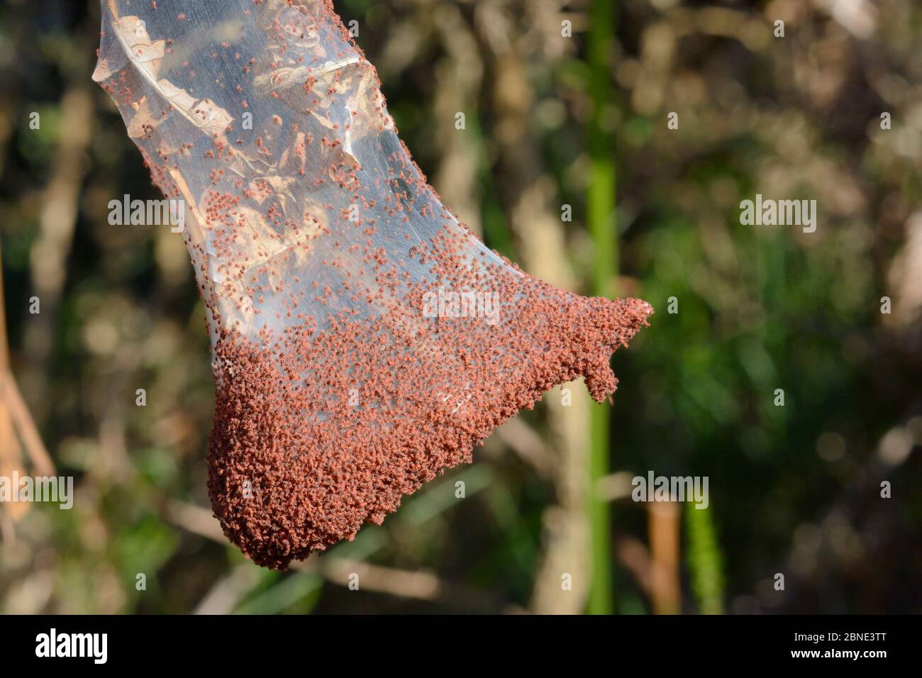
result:
[[[381,315],[342,311],[324,331],[310,317],[283,338],[222,333],[208,487],[225,533],[255,562],[285,567],[380,523],[557,384],[585,376],[599,401],[614,391],[609,355],[644,327],[648,304],[472,266],[453,252],[459,239],[441,240],[422,248],[439,280],[495,293],[497,324],[424,317],[423,294],[438,286],[379,267],[370,300]]]

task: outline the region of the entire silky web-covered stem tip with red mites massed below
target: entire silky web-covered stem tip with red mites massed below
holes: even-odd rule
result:
[[[216,379],[208,492],[254,562],[380,523],[551,387],[615,390],[610,354],[650,305],[558,290],[458,223],[329,0],[103,17],[94,78],[184,203]]]

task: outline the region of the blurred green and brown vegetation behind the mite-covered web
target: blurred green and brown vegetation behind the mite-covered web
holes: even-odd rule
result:
[[[28,410],[77,499],[0,506],[0,611],[922,612],[922,6],[335,5],[415,160],[487,244],[554,284],[654,304],[613,359],[613,406],[575,384],[562,407],[558,387],[382,527],[287,573],[244,560],[208,508],[213,386],[182,240],[107,221],[109,200],[159,196],[89,79],[97,0],[7,0],[18,389],[0,465],[47,463]],[[740,225],[756,193],[816,199],[817,231]],[[649,470],[707,476],[710,506],[633,503]]]

